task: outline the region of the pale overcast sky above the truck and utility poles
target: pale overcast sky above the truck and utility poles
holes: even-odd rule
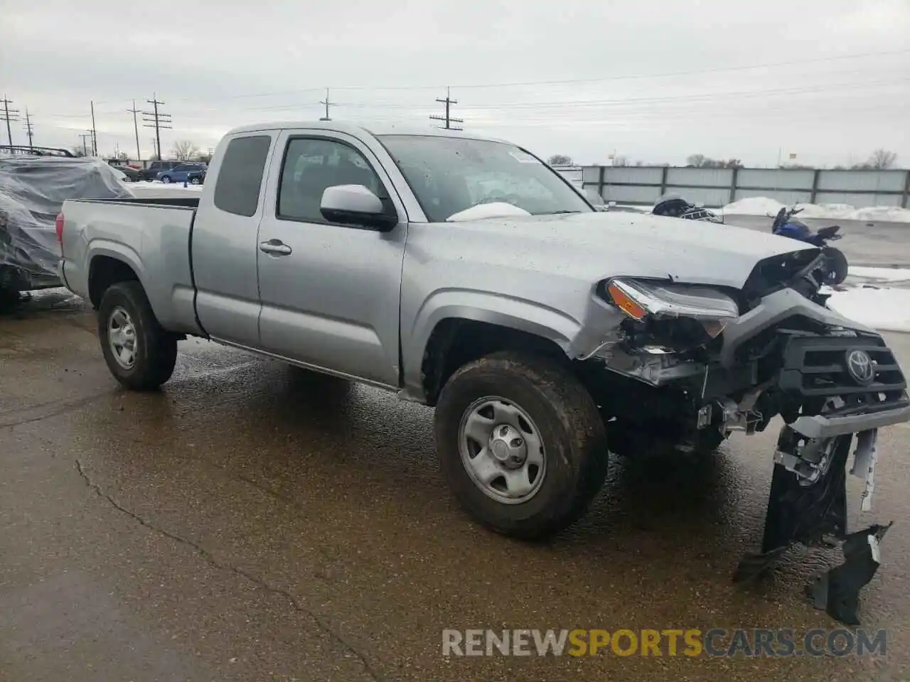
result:
[[[450,85],[466,130],[581,163],[907,165],[908,36],[910,0],[0,0],[0,94],[54,146],[94,100],[99,152],[131,157],[134,98],[167,103],[167,156],[318,118],[326,87],[332,118],[429,126]]]

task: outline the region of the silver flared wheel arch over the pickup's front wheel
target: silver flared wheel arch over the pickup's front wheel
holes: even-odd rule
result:
[[[421,364],[430,336],[445,319],[472,320],[505,326],[549,339],[567,353],[581,323],[561,310],[515,296],[463,288],[440,289],[424,300],[408,330],[403,353],[404,384],[414,396],[423,394]]]

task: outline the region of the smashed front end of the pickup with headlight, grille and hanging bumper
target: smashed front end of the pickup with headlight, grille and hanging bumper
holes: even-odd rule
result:
[[[764,259],[736,289],[614,277],[598,286],[589,319],[599,322],[571,354],[605,418],[672,432],[683,449],[781,416],[761,547],[733,579],[758,577],[796,543],[839,547],[844,564],[807,592],[854,625],[890,525],[848,532],[848,467],[864,480],[867,511],[878,429],[910,420],[910,399],[882,336],[826,307],[823,275],[823,258],[807,249]]]

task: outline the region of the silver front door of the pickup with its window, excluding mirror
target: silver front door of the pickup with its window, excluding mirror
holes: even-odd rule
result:
[[[389,177],[356,137],[285,131],[269,172],[259,225],[263,350],[382,386],[399,383],[399,296],[407,221],[389,232],[321,215],[329,186],[363,185],[389,197]]]

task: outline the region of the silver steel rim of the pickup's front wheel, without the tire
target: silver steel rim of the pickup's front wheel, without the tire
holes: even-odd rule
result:
[[[471,481],[497,502],[519,505],[540,492],[547,470],[541,432],[514,401],[484,396],[471,403],[461,416],[459,451]]]

